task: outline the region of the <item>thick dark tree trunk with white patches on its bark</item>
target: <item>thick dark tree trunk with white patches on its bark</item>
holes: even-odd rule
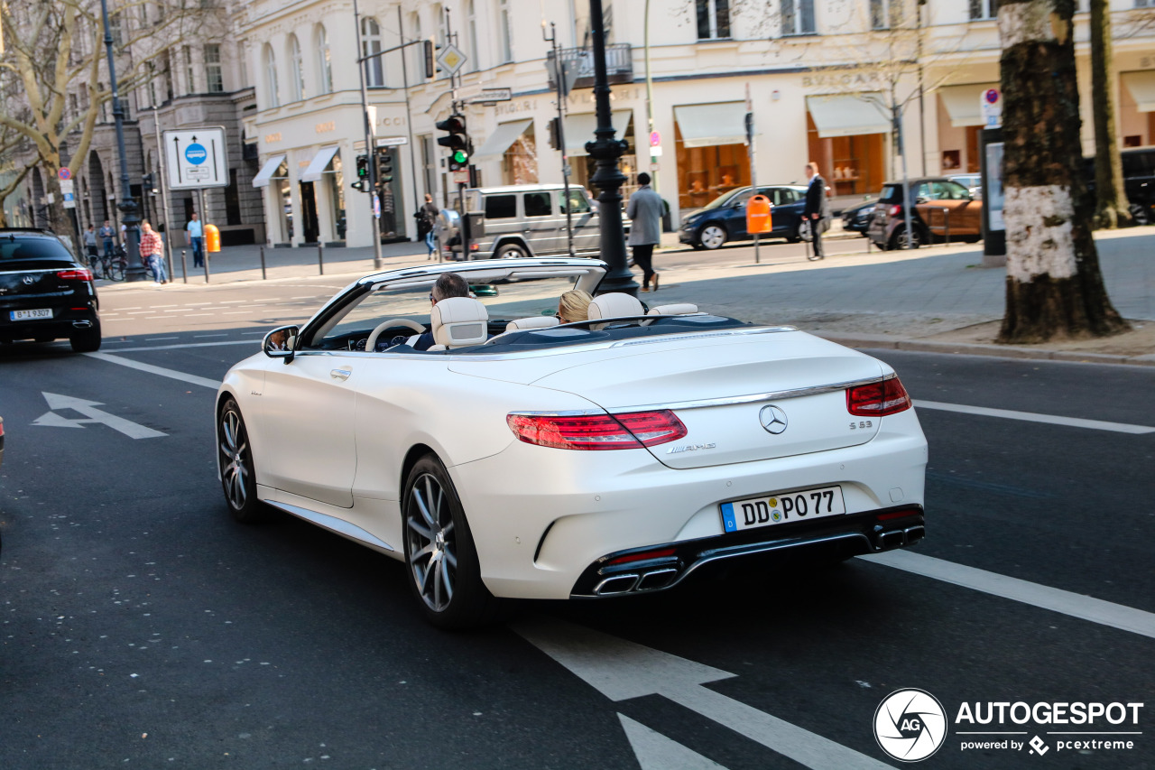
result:
[[[1082,179],[1074,0],[1003,0],[1006,316],[1000,342],[1128,328],[1103,287]],[[1038,73],[1048,73],[1041,77]]]

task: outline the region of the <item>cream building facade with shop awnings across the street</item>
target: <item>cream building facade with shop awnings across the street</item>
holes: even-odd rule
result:
[[[747,99],[759,183],[803,180],[814,160],[836,201],[849,203],[901,176],[903,160],[910,175],[977,168],[979,95],[999,80],[992,0],[648,5],[647,30],[647,3],[603,0],[613,124],[627,142],[624,192],[650,171],[675,221],[750,183]],[[1155,143],[1147,5],[1112,2],[1120,146]],[[254,0],[239,9],[238,47],[256,99],[244,134],[260,158],[254,184],[270,244],[371,242],[371,199],[350,186],[365,147],[362,77],[374,141],[392,148],[382,239],[415,237],[412,214],[426,192],[441,205],[455,199],[435,128],[453,112],[450,81],[442,72],[427,77],[422,46],[398,49],[404,43],[452,42],[464,54],[457,97],[470,102],[462,112],[477,185],[559,183],[568,162],[572,182],[589,186],[584,145],[596,121],[584,0],[364,0],[359,10],[357,21],[348,0]],[[1076,16],[1076,34],[1089,153],[1087,17]],[[565,158],[550,128],[550,23],[576,76],[564,104]],[[382,51],[358,67],[358,55]],[[509,89],[512,98],[471,99],[485,89]]]

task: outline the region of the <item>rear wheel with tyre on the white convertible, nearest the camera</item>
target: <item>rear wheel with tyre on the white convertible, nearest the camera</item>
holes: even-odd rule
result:
[[[444,630],[492,623],[505,609],[482,582],[474,536],[461,498],[434,454],[405,479],[401,506],[405,575],[425,620]]]

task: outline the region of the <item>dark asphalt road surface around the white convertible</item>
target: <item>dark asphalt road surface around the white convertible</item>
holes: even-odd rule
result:
[[[113,358],[0,347],[0,768],[901,767],[872,732],[900,688],[945,706],[929,768],[1155,767],[1155,432],[1063,423],[1155,425],[1155,371],[879,351],[918,401],[1014,413],[918,410],[929,561],[532,604],[449,635],[396,562],[295,519],[237,525],[215,479],[196,378],[337,286],[110,293]],[[155,331],[118,334],[135,316]],[[1020,701],[1146,705],[1138,725],[954,724]],[[1053,743],[1104,736],[1048,731],[1142,734],[1080,752]],[[1034,735],[1042,756],[961,749]]]

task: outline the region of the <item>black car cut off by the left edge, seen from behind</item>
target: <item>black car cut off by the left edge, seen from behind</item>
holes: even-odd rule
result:
[[[47,230],[0,228],[0,342],[67,338],[76,353],[100,347],[92,272]]]

